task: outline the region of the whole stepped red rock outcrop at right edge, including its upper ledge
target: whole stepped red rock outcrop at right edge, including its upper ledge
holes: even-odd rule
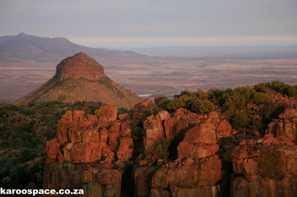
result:
[[[279,118],[264,137],[244,139],[232,151],[239,175],[232,196],[297,196],[297,109],[287,108]]]

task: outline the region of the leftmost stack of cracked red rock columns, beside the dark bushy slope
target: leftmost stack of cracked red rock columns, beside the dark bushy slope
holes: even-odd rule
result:
[[[132,157],[130,125],[135,121],[116,120],[115,106],[102,106],[100,112],[98,118],[67,111],[59,120],[57,138],[46,143],[44,188],[84,189],[84,196],[121,196],[121,173],[112,169],[113,161]]]

